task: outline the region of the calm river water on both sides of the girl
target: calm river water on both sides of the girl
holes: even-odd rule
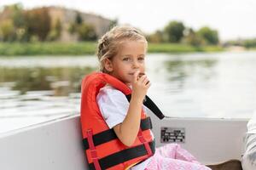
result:
[[[166,116],[249,118],[256,52],[148,54],[148,96]],[[0,133],[79,114],[80,81],[94,56],[1,57]]]

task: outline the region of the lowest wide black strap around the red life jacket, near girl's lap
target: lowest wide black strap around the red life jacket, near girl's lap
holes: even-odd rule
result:
[[[154,141],[148,143],[152,153],[155,152],[155,143]],[[148,155],[147,150],[145,150],[144,144],[137,145],[135,147],[121,150],[119,152],[113,153],[110,156],[103,157],[102,159],[98,159],[100,166],[102,169],[107,169],[108,167],[113,167],[122,162],[129,161],[131,159],[137,158],[139,156]],[[94,163],[89,164],[90,170],[96,170]]]

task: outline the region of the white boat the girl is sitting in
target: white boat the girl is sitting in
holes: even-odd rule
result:
[[[176,140],[204,164],[241,159],[247,119],[151,116],[156,146]],[[161,136],[162,135],[162,136]],[[1,170],[86,170],[79,116],[0,135]]]

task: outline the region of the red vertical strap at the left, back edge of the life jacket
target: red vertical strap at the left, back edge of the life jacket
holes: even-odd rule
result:
[[[88,143],[89,143],[89,148],[90,148],[90,156],[93,161],[94,167],[96,170],[102,170],[100,163],[99,163],[99,158],[97,156],[96,147],[93,143],[91,129],[87,130],[87,138],[88,138]]]

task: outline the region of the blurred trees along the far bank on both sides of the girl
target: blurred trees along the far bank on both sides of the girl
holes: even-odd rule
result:
[[[58,41],[63,30],[60,19],[53,21],[48,8],[34,8],[24,10],[20,3],[6,6],[0,17],[0,41],[2,42],[35,42]],[[113,25],[118,21],[113,20]],[[68,33],[76,35],[79,41],[96,41],[99,35],[96,28],[85,23],[79,13],[75,20],[68,23]],[[65,28],[66,29],[66,28]],[[171,21],[162,30],[155,31],[147,36],[149,42],[187,43],[193,46],[217,45],[218,31],[210,27],[201,27],[198,31],[183,25],[180,21]]]

